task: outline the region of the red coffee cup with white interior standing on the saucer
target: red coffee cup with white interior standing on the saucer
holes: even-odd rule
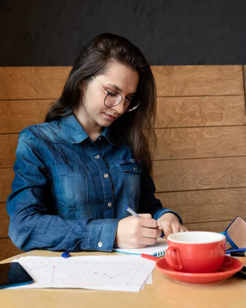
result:
[[[225,256],[223,234],[205,231],[174,233],[167,237],[165,259],[179,272],[213,273]]]

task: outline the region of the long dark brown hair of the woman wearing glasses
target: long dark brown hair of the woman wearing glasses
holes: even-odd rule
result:
[[[86,83],[91,75],[104,73],[111,61],[125,64],[139,73],[137,99],[141,102],[137,109],[125,112],[111,124],[112,137],[125,138],[134,158],[144,162],[152,173],[152,155],[157,139],[154,131],[157,101],[155,80],[142,52],[122,36],[103,33],[83,48],[68,75],[61,97],[51,106],[45,122],[72,114],[80,104],[79,85]]]

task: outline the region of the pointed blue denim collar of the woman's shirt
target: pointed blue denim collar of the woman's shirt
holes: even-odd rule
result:
[[[62,124],[64,125],[64,128],[71,140],[71,143],[80,143],[86,140],[87,138],[90,138],[88,133],[84,130],[84,128],[80,125],[78,120],[74,117],[73,114],[69,115],[66,118],[62,118]],[[110,127],[105,127],[104,131],[101,133],[101,135],[97,138],[97,140],[104,136],[106,140],[112,144],[115,145],[110,140]]]

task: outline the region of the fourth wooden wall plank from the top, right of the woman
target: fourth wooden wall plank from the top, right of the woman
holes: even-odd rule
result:
[[[154,162],[157,192],[246,186],[246,157]]]

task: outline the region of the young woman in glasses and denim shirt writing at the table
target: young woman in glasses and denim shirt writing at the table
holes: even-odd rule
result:
[[[184,232],[154,197],[155,113],[155,81],[141,51],[118,35],[93,38],[45,123],[20,133],[7,201],[13,243],[110,252],[152,245],[161,230]],[[145,214],[130,216],[126,206]]]

